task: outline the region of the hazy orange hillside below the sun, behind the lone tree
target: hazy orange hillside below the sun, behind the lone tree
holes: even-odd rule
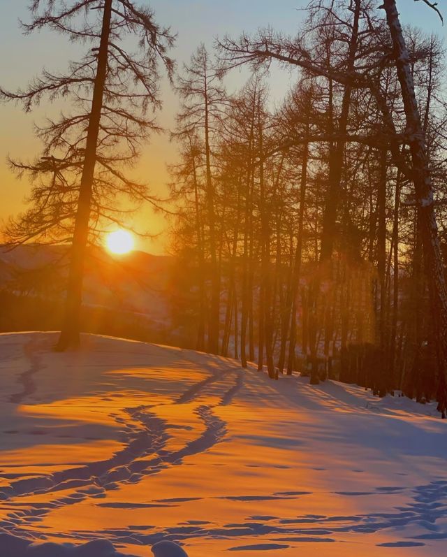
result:
[[[68,258],[67,247],[61,245],[22,245],[12,251],[0,248],[0,291],[27,298],[22,312],[20,304],[10,303],[8,319],[3,331],[29,330],[36,321],[42,327],[42,311],[36,300],[46,302],[46,313],[54,317],[46,324],[54,330],[60,326],[62,301]],[[173,259],[145,252],[132,252],[126,256],[112,256],[100,248],[90,248],[86,261],[83,302],[85,317],[83,328],[91,332],[133,336],[132,326],[145,326],[150,338],[158,338],[158,331],[170,329],[170,280]],[[8,308],[8,303],[3,303]],[[101,314],[105,310],[105,314]],[[119,314],[113,319],[107,312]],[[121,331],[110,330],[110,321],[129,324]]]

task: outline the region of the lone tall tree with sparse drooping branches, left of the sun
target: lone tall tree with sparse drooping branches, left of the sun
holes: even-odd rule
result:
[[[44,70],[27,89],[7,92],[0,99],[15,100],[29,111],[43,96],[68,99],[70,114],[49,120],[38,129],[45,144],[34,164],[12,163],[36,180],[31,208],[13,222],[13,242],[52,235],[71,243],[64,322],[57,349],[77,347],[80,333],[82,278],[87,245],[98,236],[104,220],[120,222],[115,198],[154,201],[145,185],[126,177],[143,140],[158,130],[149,110],[159,108],[159,64],[168,75],[173,61],[167,51],[174,37],[154,22],[149,8],[130,0],[34,0],[33,19],[26,32],[45,27],[71,41],[92,46],[66,73]],[[138,52],[127,50],[137,39]],[[76,110],[76,111],[74,111]]]

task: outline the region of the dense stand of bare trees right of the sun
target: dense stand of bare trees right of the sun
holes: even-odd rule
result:
[[[188,294],[176,310],[198,349],[272,378],[330,372],[437,398],[445,416],[444,50],[402,29],[395,2],[381,8],[313,1],[293,38],[227,37],[186,64],[171,192]],[[274,62],[296,79],[272,108]],[[242,65],[251,77],[228,94]]]

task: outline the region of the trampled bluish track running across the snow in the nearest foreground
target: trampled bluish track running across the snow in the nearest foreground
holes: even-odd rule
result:
[[[369,514],[352,515],[314,515],[305,514],[294,518],[282,518],[280,516],[247,516],[238,523],[218,524],[211,522],[187,521],[147,533],[143,527],[140,530],[126,530],[109,528],[97,531],[82,530],[77,533],[81,540],[92,540],[98,535],[106,537],[114,544],[150,545],[159,540],[171,540],[177,543],[191,542],[200,538],[234,539],[244,537],[244,543],[250,538],[257,542],[258,549],[264,544],[274,542],[318,542],[332,543],[335,537],[340,535],[361,535],[380,533],[389,528],[411,528],[411,526],[425,525],[425,533],[417,535],[405,534],[405,542],[393,542],[392,544],[379,544],[383,547],[407,547],[424,546],[430,540],[447,539],[447,530],[443,525],[447,519],[447,480],[442,479],[430,484],[415,486],[408,491],[407,502],[399,507],[393,507],[388,512],[372,512]],[[266,500],[281,498],[300,498],[312,495],[310,492],[297,492],[296,495],[287,493],[276,493],[266,495]],[[191,500],[195,500],[191,499]],[[244,498],[240,498],[244,500]],[[247,500],[250,500],[247,498]],[[439,526],[437,525],[439,521]],[[61,535],[66,537],[66,534]],[[248,538],[248,540],[247,540]],[[243,546],[235,547],[230,551],[243,549]]]

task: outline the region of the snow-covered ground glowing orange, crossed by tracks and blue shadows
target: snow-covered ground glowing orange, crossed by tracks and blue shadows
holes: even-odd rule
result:
[[[160,540],[189,557],[447,554],[433,405],[91,335],[57,354],[56,338],[0,335],[1,557],[149,557]]]

